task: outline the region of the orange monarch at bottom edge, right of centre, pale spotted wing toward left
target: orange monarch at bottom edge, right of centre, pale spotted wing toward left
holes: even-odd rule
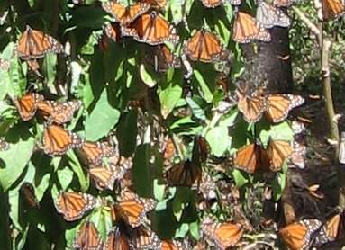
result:
[[[236,246],[243,235],[241,224],[232,222],[214,223],[208,219],[203,222],[202,230],[219,249]]]

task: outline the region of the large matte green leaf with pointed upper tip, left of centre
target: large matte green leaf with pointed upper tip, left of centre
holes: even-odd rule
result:
[[[95,109],[85,121],[85,132],[87,140],[97,140],[108,135],[117,121],[119,121],[120,112],[114,109],[109,103],[106,89],[102,92]]]

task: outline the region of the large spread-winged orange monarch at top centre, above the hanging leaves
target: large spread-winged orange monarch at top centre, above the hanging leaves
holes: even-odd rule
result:
[[[150,45],[158,45],[166,41],[177,43],[179,40],[175,28],[156,11],[144,13],[128,26],[122,27],[122,34]]]

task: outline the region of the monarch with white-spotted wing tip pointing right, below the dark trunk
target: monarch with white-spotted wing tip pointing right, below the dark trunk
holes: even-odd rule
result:
[[[304,103],[304,98],[295,94],[267,94],[265,116],[268,121],[284,121],[288,113]]]

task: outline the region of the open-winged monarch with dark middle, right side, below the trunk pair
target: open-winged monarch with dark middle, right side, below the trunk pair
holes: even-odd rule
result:
[[[264,168],[268,166],[271,171],[276,172],[281,169],[286,158],[293,152],[294,149],[288,141],[270,139],[266,150],[257,142],[241,147],[236,152],[233,164],[236,168],[250,174],[260,166]]]

